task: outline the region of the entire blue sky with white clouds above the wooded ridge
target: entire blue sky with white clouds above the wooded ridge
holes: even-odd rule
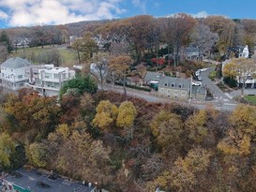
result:
[[[0,0],[0,28],[64,24],[135,15],[223,15],[256,19],[256,0]]]

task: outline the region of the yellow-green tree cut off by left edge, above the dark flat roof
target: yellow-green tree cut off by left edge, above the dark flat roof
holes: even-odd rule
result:
[[[10,157],[15,151],[15,142],[7,133],[0,133],[0,168],[10,166]]]

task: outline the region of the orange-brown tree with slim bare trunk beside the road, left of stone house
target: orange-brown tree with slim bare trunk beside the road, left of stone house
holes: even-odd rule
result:
[[[116,56],[110,60],[110,71],[119,79],[119,81],[123,83],[124,95],[126,97],[126,100],[128,97],[126,82],[128,76],[128,69],[131,63],[132,60],[127,55]]]

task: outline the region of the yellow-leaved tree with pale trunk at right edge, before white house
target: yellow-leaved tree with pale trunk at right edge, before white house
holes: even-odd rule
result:
[[[254,59],[235,58],[224,66],[226,77],[236,77],[241,85],[241,97],[244,98],[245,83],[256,76],[256,62]]]

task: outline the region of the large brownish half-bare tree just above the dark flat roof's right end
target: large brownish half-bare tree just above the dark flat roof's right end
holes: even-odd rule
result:
[[[111,149],[104,147],[101,140],[94,140],[84,132],[73,131],[62,143],[55,166],[72,177],[106,185],[111,178],[110,153]]]

